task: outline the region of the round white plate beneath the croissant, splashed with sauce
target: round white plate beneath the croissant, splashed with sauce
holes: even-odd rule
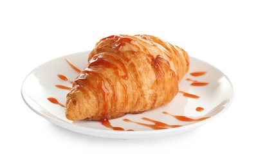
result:
[[[111,119],[109,121],[113,127],[121,127],[123,130],[107,128],[98,121],[69,121],[65,117],[64,107],[50,102],[48,98],[57,98],[62,104],[66,102],[68,90],[60,89],[56,85],[71,87],[71,84],[69,81],[59,78],[58,75],[67,76],[69,80],[74,80],[78,72],[68,64],[66,58],[78,69],[84,69],[87,64],[88,54],[89,51],[86,51],[56,58],[34,69],[25,78],[21,88],[23,100],[30,109],[60,127],[82,134],[120,139],[136,139],[169,136],[196,128],[221,114],[233,100],[233,87],[227,76],[214,66],[190,57],[190,70],[179,83],[179,91],[197,95],[199,98],[183,96],[183,93],[179,92],[174,100],[158,109],[143,112],[143,114],[127,114],[122,118]],[[199,71],[204,71],[206,74],[201,76],[190,75],[190,73]],[[190,80],[187,80],[188,78]],[[208,85],[192,86],[190,85],[192,84],[191,80],[206,82]],[[197,111],[197,107],[202,107],[204,110]],[[163,112],[168,112],[174,116],[186,116],[192,119],[210,118],[204,119],[203,121],[181,121],[169,114],[163,114]],[[181,125],[181,127],[155,130],[138,123],[123,121],[123,119],[129,119],[154,126],[152,121],[142,118],[149,118],[168,125]]]

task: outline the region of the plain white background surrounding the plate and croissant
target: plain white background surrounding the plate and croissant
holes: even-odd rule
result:
[[[256,166],[255,7],[247,0],[0,1],[0,166]],[[30,71],[118,33],[160,37],[217,67],[232,81],[232,105],[183,134],[107,139],[57,127],[24,103]]]

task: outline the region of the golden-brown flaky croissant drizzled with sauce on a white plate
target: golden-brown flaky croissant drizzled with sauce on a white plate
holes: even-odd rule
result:
[[[169,103],[188,68],[188,54],[158,37],[101,39],[67,95],[66,118],[101,121]]]

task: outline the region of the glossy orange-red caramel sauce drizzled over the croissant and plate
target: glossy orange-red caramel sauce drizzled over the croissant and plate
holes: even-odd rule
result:
[[[120,36],[115,36],[115,35],[106,37],[105,39],[102,39],[102,40],[106,40],[106,39],[113,39],[113,40],[116,40],[116,42],[118,42],[116,44],[116,46],[113,46],[113,47],[116,47],[117,51],[119,51],[122,48],[122,46],[125,44],[125,42],[131,42],[131,40],[133,40],[129,37],[120,37]],[[100,41],[102,41],[102,40],[100,40]],[[174,46],[172,46],[172,47],[174,47]],[[141,49],[143,49],[143,47]],[[174,48],[174,52],[175,51],[177,51],[177,50]],[[145,51],[145,52],[147,52],[147,51]],[[71,81],[68,80],[67,76],[58,75],[61,80],[68,81],[71,84],[78,84],[78,82],[85,82],[87,85],[89,85],[89,87],[91,87],[91,89],[95,89],[95,87],[96,87],[97,91],[95,91],[94,93],[100,95],[100,97],[101,97],[101,98],[99,98],[99,100],[101,99],[102,100],[102,105],[104,105],[104,107],[103,107],[104,114],[106,114],[105,112],[107,110],[106,109],[107,108],[107,103],[109,101],[108,98],[107,98],[107,94],[109,93],[109,91],[106,89],[106,87],[104,85],[104,81],[102,79],[103,76],[101,76],[98,73],[98,71],[96,69],[94,69],[94,66],[109,67],[109,68],[114,70],[114,73],[122,73],[122,75],[119,75],[119,76],[123,80],[127,80],[129,77],[131,77],[131,74],[129,73],[129,71],[127,71],[127,69],[125,69],[125,66],[123,65],[123,62],[121,60],[119,60],[118,58],[112,57],[111,55],[107,55],[107,57],[105,57],[105,54],[107,54],[107,53],[101,53],[100,55],[95,55],[93,58],[91,58],[87,68],[84,69],[83,71],[81,71],[80,69],[75,67],[66,58],[66,62],[68,62],[69,66],[71,66],[72,69],[74,69],[75,71],[80,73],[80,75],[92,75],[93,77],[96,77],[98,79],[98,85],[92,85],[86,79],[81,79],[79,77],[74,82],[71,82]],[[131,51],[131,54],[136,56],[136,52],[134,52],[134,51]],[[152,61],[152,66],[154,67],[154,69],[156,69],[156,76],[158,76],[157,77],[158,80],[160,80],[160,78],[163,77],[164,72],[161,70],[161,66],[160,66],[159,63],[165,63],[165,59],[162,58],[160,55],[159,55],[159,57],[157,57],[155,59],[154,59],[154,57],[152,57],[151,54],[147,53],[147,55],[148,55],[149,60]],[[127,62],[129,61],[129,59],[123,57],[122,54],[120,54],[120,57],[124,61],[127,61]],[[166,60],[166,62],[168,62],[168,61]],[[138,73],[138,69],[136,69],[136,68],[137,67],[134,66],[133,63],[131,63],[131,69],[135,72],[134,74],[135,74],[135,78],[136,78],[136,80],[134,79],[134,82],[136,82],[136,85],[138,87],[142,87],[143,83],[140,80],[140,73]],[[201,75],[205,75],[205,74],[206,74],[205,71],[190,73],[190,75],[192,75],[192,76],[201,76]],[[199,82],[197,80],[192,80],[190,78],[187,78],[187,80],[192,81],[192,84],[190,84],[192,86],[205,86],[205,85],[209,84],[208,82]],[[113,82],[112,83],[113,94],[116,94],[117,92],[115,91],[116,89],[114,87],[114,85],[115,85],[114,81],[109,81],[109,82]],[[123,89],[127,89],[125,84],[122,83],[122,85],[123,85]],[[66,87],[64,85],[55,85],[55,86],[59,87],[60,89],[68,89],[68,90],[71,89],[71,87]],[[179,92],[182,93],[183,96],[188,97],[188,98],[200,98],[199,96],[197,96],[195,94],[189,94],[188,92],[183,92],[183,91],[179,91]],[[86,96],[86,95],[84,95],[84,96]],[[65,105],[60,103],[59,100],[57,100],[57,98],[48,98],[48,100],[51,103],[55,103],[57,105],[60,105],[61,107],[65,107]],[[111,100],[116,101],[116,96],[114,96],[114,98],[111,99]],[[127,101],[127,100],[125,100],[125,101]],[[203,110],[204,110],[203,107],[197,107],[196,108],[196,111],[203,111]],[[170,116],[178,119],[179,121],[202,121],[204,119],[210,118],[210,117],[202,117],[202,118],[193,119],[193,118],[188,118],[187,116],[176,116],[176,115],[173,115],[173,114],[169,114],[168,112],[163,112],[163,114],[170,115]],[[163,123],[161,121],[156,121],[154,119],[149,119],[149,118],[142,118],[142,119],[145,120],[145,121],[150,121],[154,124],[147,124],[147,123],[141,123],[141,122],[138,122],[138,121],[131,121],[130,119],[123,119],[123,121],[136,123],[138,125],[142,125],[142,126],[145,126],[145,127],[150,127],[152,129],[155,129],[155,130],[160,130],[160,129],[165,129],[165,128],[176,128],[176,127],[181,127],[182,126],[182,125],[169,125],[167,123]],[[113,130],[124,130],[122,127],[113,127],[108,119],[102,119],[101,123],[105,127],[111,128]],[[127,130],[127,131],[132,131],[132,130]]]

